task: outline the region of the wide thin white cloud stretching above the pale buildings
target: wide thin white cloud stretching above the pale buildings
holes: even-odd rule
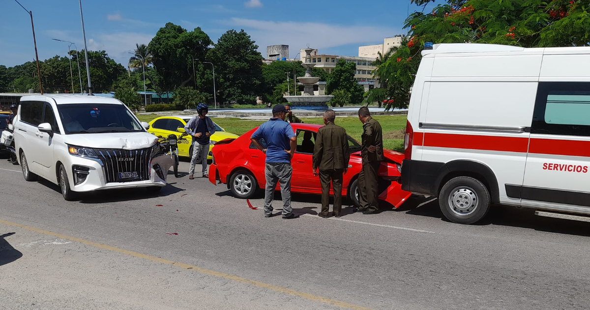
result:
[[[383,38],[400,33],[401,29],[373,27],[365,25],[330,25],[317,22],[275,22],[255,19],[232,18],[228,24],[244,28],[266,56],[267,45],[287,44],[291,56],[300,48],[320,49],[339,47],[348,44],[379,44]],[[348,55],[348,56],[356,56]]]

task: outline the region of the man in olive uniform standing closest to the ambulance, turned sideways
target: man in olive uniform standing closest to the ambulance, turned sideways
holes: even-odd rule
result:
[[[375,214],[379,209],[379,184],[377,171],[383,161],[383,135],[381,125],[371,118],[368,107],[359,109],[359,120],[363,123],[362,156],[363,168],[359,174],[359,204],[357,211]]]

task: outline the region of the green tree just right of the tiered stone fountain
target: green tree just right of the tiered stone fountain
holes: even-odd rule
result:
[[[365,89],[356,83],[356,64],[348,63],[344,59],[338,60],[336,67],[326,79],[326,94],[332,94],[335,90],[345,90],[350,94],[350,103],[363,102]]]

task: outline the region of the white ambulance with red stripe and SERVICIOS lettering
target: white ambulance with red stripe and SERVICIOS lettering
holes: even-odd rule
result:
[[[490,205],[590,221],[590,47],[435,44],[409,104],[402,188],[472,224]]]

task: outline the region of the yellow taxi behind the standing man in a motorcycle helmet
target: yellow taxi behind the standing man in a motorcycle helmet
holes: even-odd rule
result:
[[[162,137],[168,137],[168,135],[171,134],[178,136],[178,156],[191,158],[192,136],[183,135],[178,132],[178,128],[184,128],[191,118],[192,116],[188,115],[160,116],[149,122],[148,132]],[[225,132],[225,130],[219,127],[215,122],[213,124],[215,125],[215,133],[211,136],[211,142],[209,142],[209,154],[207,159],[212,159],[211,149],[215,143],[227,138],[238,138],[238,135]]]

